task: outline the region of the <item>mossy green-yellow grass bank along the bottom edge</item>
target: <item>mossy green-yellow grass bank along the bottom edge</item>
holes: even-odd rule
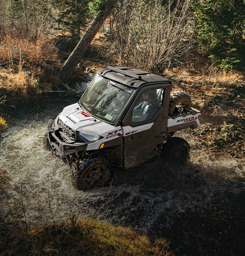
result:
[[[3,228],[2,255],[174,255],[165,239],[151,243],[131,229],[112,227],[94,220],[71,219],[37,227],[28,234]],[[2,248],[1,248],[2,247]]]

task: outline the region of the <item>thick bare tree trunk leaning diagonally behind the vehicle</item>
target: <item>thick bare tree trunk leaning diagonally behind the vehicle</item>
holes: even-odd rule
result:
[[[60,78],[63,82],[67,82],[71,78],[73,70],[79,63],[87,48],[90,46],[92,40],[116,2],[117,0],[108,0],[106,8],[97,14],[92,25],[87,29],[83,37],[78,42],[76,48],[73,50],[69,58],[64,62],[64,65],[61,67],[59,72]]]

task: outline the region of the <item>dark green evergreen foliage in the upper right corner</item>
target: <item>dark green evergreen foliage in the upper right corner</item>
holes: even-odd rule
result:
[[[244,0],[193,0],[196,42],[221,69],[240,70],[245,62]]]

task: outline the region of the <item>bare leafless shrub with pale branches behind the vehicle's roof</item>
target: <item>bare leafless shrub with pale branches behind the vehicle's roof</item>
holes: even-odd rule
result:
[[[120,65],[154,73],[184,65],[193,45],[189,7],[189,0],[118,2],[113,17]]]

